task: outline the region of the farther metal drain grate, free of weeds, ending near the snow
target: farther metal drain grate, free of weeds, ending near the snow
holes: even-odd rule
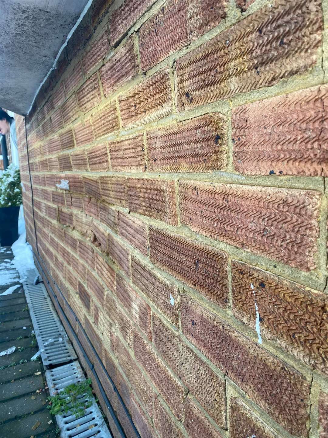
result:
[[[77,355],[45,286],[42,283],[33,284],[36,275],[38,272],[35,269],[25,272],[26,278],[23,280],[23,286],[42,362],[45,366],[65,364],[77,359]]]

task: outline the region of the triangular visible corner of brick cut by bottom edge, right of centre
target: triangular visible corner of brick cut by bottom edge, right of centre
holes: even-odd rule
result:
[[[263,423],[239,399],[230,399],[229,406],[229,431],[231,438],[251,437],[279,438],[272,429]]]

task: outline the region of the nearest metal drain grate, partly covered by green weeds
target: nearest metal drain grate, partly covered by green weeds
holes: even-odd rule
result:
[[[51,396],[55,395],[55,391],[60,392],[72,383],[85,380],[77,361],[45,371],[45,378]],[[68,412],[64,415],[56,415],[56,420],[61,438],[112,438],[95,400],[90,408],[84,411],[82,417],[75,417]]]

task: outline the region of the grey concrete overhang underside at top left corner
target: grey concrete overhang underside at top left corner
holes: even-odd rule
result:
[[[0,0],[0,106],[27,114],[87,0]]]

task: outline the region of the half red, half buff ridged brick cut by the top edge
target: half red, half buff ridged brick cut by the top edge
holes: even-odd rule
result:
[[[170,0],[139,30],[141,68],[148,70],[171,53],[216,27],[226,17],[226,0]]]

